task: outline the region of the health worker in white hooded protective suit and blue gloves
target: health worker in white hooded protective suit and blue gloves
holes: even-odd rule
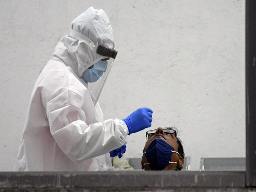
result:
[[[32,91],[14,171],[102,171],[122,157],[127,135],[151,126],[152,111],[103,119],[97,102],[117,52],[102,9],[76,17]]]

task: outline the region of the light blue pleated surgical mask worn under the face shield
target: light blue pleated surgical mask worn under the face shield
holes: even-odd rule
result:
[[[89,83],[97,81],[103,73],[107,70],[108,61],[99,60],[96,64],[93,65],[93,68],[86,69],[82,75],[82,79]]]

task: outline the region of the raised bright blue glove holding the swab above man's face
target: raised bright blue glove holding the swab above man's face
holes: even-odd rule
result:
[[[152,113],[150,108],[139,108],[123,119],[128,127],[129,135],[151,127]]]

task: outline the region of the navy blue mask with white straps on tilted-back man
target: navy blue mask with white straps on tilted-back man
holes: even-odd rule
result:
[[[161,139],[155,139],[148,146],[145,156],[147,157],[147,164],[152,170],[163,170],[171,162],[171,157],[173,153],[178,152],[174,151],[174,148]],[[180,154],[179,154],[180,156]]]

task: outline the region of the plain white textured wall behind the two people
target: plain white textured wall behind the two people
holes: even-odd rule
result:
[[[191,169],[245,157],[244,0],[0,0],[0,171],[12,171],[29,97],[71,21],[104,9],[118,55],[99,102],[108,118],[140,107],[176,126]],[[145,131],[128,136],[141,157]]]

